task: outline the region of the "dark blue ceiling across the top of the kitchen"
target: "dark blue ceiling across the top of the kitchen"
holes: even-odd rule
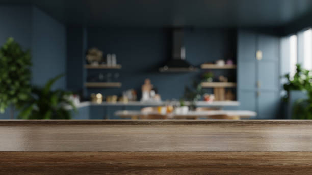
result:
[[[121,27],[283,26],[312,10],[311,0],[0,0],[33,4],[67,25]]]

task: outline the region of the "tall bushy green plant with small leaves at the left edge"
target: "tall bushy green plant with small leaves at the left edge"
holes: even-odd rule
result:
[[[30,51],[8,38],[0,48],[0,113],[11,106],[11,119],[14,108],[20,108],[31,92],[31,65]]]

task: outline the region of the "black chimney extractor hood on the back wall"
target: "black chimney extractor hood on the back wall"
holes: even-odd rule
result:
[[[160,72],[193,72],[197,68],[185,60],[184,31],[183,29],[174,29],[172,39],[172,59],[163,67]]]

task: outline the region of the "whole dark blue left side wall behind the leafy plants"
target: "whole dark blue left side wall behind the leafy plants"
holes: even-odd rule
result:
[[[64,25],[33,6],[0,6],[0,44],[13,37],[23,49],[32,51],[32,83],[43,85],[49,78],[66,73]],[[65,78],[54,88],[65,88]],[[18,112],[15,112],[17,115]],[[9,119],[9,109],[0,119]]]

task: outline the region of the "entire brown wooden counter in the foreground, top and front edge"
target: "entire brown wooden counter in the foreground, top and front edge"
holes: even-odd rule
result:
[[[3,120],[3,174],[309,174],[312,121]]]

